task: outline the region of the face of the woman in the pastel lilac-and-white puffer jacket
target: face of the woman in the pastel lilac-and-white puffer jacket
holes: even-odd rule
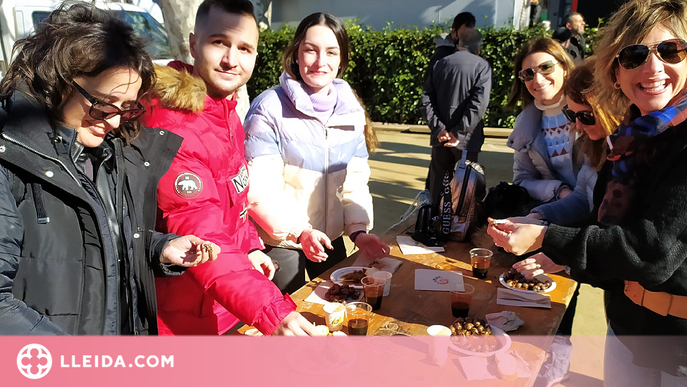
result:
[[[298,71],[313,93],[328,93],[339,73],[341,48],[327,26],[312,26],[298,46]]]

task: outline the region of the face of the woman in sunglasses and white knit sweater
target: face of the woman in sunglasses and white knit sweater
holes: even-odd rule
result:
[[[531,81],[525,82],[527,91],[542,105],[557,103],[563,95],[563,83],[565,83],[566,71],[558,63],[553,55],[546,52],[534,52],[522,61],[522,68],[538,68],[545,62],[556,63],[551,74],[536,73]]]

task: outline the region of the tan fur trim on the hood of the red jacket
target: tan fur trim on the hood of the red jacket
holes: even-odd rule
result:
[[[207,88],[201,78],[192,75],[193,66],[173,61],[167,66],[156,65],[155,73],[154,98],[159,99],[162,107],[193,113],[203,111]]]

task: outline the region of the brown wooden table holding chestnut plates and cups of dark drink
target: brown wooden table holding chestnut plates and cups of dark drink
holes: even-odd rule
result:
[[[403,263],[394,273],[391,281],[389,296],[384,297],[382,306],[373,313],[369,322],[368,335],[393,336],[410,335],[426,336],[426,329],[430,325],[450,325],[455,321],[450,310],[450,294],[440,291],[415,290],[416,269],[440,269],[458,271],[463,274],[465,283],[475,287],[469,315],[484,319],[488,313],[504,310],[514,311],[525,324],[514,332],[509,332],[513,340],[512,349],[528,362],[532,373],[530,378],[519,378],[507,385],[531,386],[536,379],[539,368],[546,359],[546,350],[551,345],[553,335],[561,323],[563,314],[570,303],[577,283],[562,275],[549,275],[556,281],[556,288],[547,293],[551,297],[551,309],[524,308],[503,306],[496,304],[496,290],[502,285],[498,277],[505,272],[517,258],[510,254],[496,251],[492,258],[491,267],[486,279],[476,279],[472,276],[469,250],[474,246],[470,243],[448,242],[443,253],[425,255],[403,255],[396,243],[397,235],[406,235],[412,229],[408,223],[390,229],[382,238],[391,246],[392,258]],[[305,301],[317,286],[328,280],[331,273],[341,267],[352,266],[357,259],[353,254],[340,264],[334,266],[319,278],[315,278],[291,295],[298,305],[298,311],[309,321],[317,325],[324,325],[323,305]],[[344,327],[344,332],[347,328]],[[245,328],[241,331],[245,331]],[[452,351],[450,351],[452,353]],[[451,354],[457,357],[459,355]],[[485,381],[480,381],[480,386]],[[503,385],[500,380],[491,380],[486,385]]]

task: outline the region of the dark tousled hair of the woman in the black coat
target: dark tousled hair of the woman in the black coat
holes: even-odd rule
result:
[[[15,59],[0,82],[0,98],[21,89],[42,104],[53,124],[62,120],[61,106],[76,92],[72,80],[95,77],[114,67],[128,67],[142,79],[139,98],[155,84],[146,42],[110,12],[82,2],[65,2],[36,32],[16,42]],[[122,124],[115,134],[130,142],[140,123]]]

